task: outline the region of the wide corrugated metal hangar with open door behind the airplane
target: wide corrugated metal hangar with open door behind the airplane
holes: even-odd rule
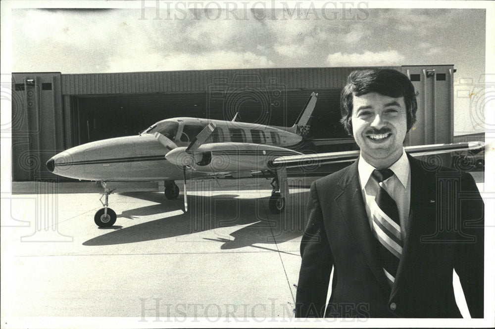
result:
[[[292,126],[311,92],[314,139],[347,139],[340,92],[355,69],[282,68],[12,74],[12,180],[49,175],[45,162],[64,149],[138,134],[156,121],[190,116]],[[407,144],[452,142],[453,65],[388,66],[408,75],[418,123]],[[331,151],[329,149],[327,151]]]

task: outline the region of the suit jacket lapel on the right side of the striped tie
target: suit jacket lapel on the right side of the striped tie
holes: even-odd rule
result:
[[[421,247],[422,221],[425,207],[429,204],[429,195],[425,182],[430,182],[426,177],[427,172],[421,168],[419,160],[407,154],[411,166],[411,202],[409,206],[409,221],[407,227],[407,236],[404,242],[404,249],[397,269],[396,280],[392,287],[390,299],[392,299],[399,287],[406,282],[408,274],[411,273],[411,266],[416,262],[420,255]]]

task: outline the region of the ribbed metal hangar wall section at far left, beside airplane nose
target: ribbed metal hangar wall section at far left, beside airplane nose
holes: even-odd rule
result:
[[[12,180],[55,177],[45,163],[64,145],[60,73],[12,73],[12,85]]]

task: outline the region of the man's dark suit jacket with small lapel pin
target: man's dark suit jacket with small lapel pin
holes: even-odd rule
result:
[[[455,269],[471,316],[483,318],[484,204],[476,184],[469,174],[408,158],[411,215],[391,290],[377,259],[357,161],[311,185],[297,317],[460,318]]]

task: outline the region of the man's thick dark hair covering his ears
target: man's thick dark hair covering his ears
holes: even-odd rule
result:
[[[347,85],[341,93],[341,123],[347,133],[352,135],[352,95],[362,96],[378,93],[389,97],[404,97],[407,115],[407,132],[416,122],[416,93],[409,78],[396,70],[353,71],[347,77]]]

